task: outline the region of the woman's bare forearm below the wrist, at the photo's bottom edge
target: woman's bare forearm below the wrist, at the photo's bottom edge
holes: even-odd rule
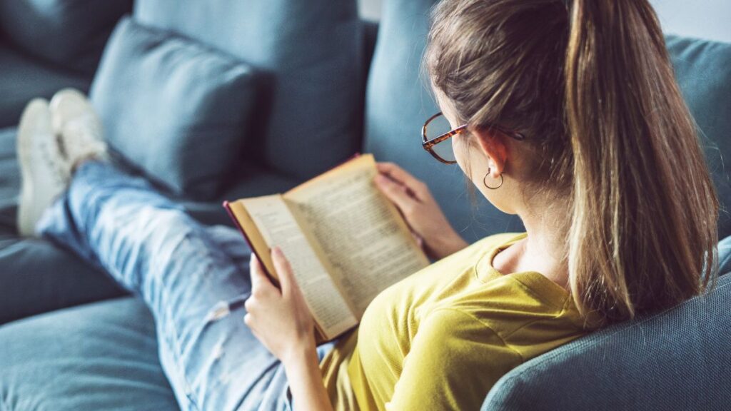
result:
[[[295,401],[297,411],[331,411],[333,404],[322,384],[322,372],[314,343],[308,347],[298,347],[296,352],[284,362],[289,389]]]

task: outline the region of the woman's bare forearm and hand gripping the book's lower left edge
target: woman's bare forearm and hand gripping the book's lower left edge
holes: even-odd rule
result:
[[[251,297],[246,300],[243,321],[284,364],[298,410],[333,410],[319,370],[312,315],[279,248],[272,250],[272,260],[281,290],[251,254]]]

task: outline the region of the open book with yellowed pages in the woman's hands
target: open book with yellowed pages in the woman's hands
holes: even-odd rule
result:
[[[275,284],[270,249],[292,266],[318,342],[357,325],[368,303],[428,265],[398,209],[374,184],[370,154],[355,157],[283,195],[224,203]]]

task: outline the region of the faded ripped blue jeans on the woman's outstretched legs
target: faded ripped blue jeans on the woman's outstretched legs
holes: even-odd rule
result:
[[[284,367],[243,323],[249,246],[204,227],[142,178],[86,162],[37,226],[142,298],[183,410],[289,410]],[[333,343],[318,347],[320,358]]]

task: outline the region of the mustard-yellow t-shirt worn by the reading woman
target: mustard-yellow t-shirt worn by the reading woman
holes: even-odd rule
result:
[[[523,361],[586,333],[564,288],[493,257],[526,233],[484,238],[393,284],[320,363],[336,410],[479,410]]]

